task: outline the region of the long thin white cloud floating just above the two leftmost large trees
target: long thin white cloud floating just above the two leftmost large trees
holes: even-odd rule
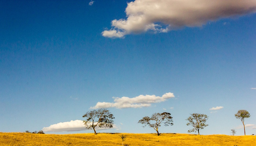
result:
[[[151,103],[159,103],[163,102],[169,98],[175,97],[173,93],[165,93],[162,97],[155,95],[140,95],[137,97],[129,98],[129,97],[113,97],[114,103],[106,103],[106,102],[98,102],[91,109],[97,108],[142,108],[142,107],[150,107]]]

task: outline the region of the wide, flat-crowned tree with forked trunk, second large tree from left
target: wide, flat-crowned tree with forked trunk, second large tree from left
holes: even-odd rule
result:
[[[149,127],[154,128],[155,131],[157,131],[157,135],[159,136],[159,132],[158,132],[158,127],[161,126],[161,123],[164,124],[164,126],[169,126],[169,125],[173,125],[173,117],[171,117],[171,114],[168,112],[163,112],[162,114],[160,113],[154,113],[151,118],[149,118],[148,116],[145,116],[144,118],[142,118],[141,120],[139,120],[138,123],[142,123],[144,126],[146,127],[147,125]]]

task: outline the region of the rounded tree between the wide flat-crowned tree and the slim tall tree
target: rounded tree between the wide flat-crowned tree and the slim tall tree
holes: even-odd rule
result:
[[[208,116],[205,114],[190,114],[186,120],[188,120],[187,126],[191,125],[194,127],[193,129],[189,129],[188,132],[196,132],[198,131],[199,135],[199,129],[203,129],[204,127],[208,126],[206,124],[206,121],[208,120]]]

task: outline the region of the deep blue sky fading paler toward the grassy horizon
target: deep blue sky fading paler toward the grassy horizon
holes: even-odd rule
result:
[[[63,122],[79,123],[98,102],[114,103],[112,97],[143,95],[145,103],[146,95],[170,92],[175,97],[147,107],[110,107],[115,127],[97,132],[154,133],[138,121],[170,112],[174,124],[160,133],[187,133],[185,119],[201,113],[209,116],[209,126],[200,134],[230,135],[234,128],[243,135],[234,114],[244,109],[251,114],[246,134],[256,134],[255,1],[227,0],[219,9],[216,0],[184,14],[182,4],[177,12],[150,9],[173,0],[152,0],[149,8],[145,0],[90,2],[0,1],[1,132],[93,132]],[[63,131],[51,129],[57,123]]]

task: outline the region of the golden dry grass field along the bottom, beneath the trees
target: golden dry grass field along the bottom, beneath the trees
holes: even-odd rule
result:
[[[122,133],[123,134],[123,133]],[[129,134],[126,146],[256,146],[256,136]],[[31,134],[0,132],[1,146],[121,146],[120,133]]]

